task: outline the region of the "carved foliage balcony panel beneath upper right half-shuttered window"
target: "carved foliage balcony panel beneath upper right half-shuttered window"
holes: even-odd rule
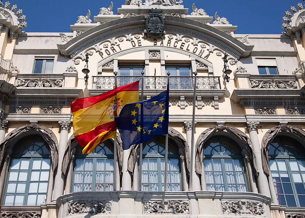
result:
[[[275,81],[275,80],[264,80],[264,81],[251,81],[251,88],[280,88],[280,89],[296,89],[297,85],[295,81]]]

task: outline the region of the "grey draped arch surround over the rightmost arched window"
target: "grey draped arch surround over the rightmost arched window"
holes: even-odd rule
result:
[[[264,172],[270,175],[270,166],[268,160],[269,144],[277,136],[290,136],[297,140],[300,144],[305,147],[305,131],[296,126],[280,125],[275,126],[265,133],[262,140],[262,159]]]

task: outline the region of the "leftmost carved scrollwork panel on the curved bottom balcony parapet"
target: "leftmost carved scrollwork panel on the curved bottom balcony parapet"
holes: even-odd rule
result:
[[[68,215],[79,213],[111,213],[111,201],[70,201],[68,202]]]

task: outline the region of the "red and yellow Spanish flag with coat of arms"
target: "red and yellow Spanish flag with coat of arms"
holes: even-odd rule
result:
[[[90,154],[106,139],[116,138],[119,116],[125,104],[139,99],[139,81],[117,87],[101,95],[76,99],[71,104],[74,137],[83,154]]]

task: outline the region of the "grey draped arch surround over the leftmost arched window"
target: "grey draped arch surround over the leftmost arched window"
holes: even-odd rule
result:
[[[32,134],[41,135],[47,142],[51,153],[52,169],[53,172],[55,172],[58,166],[58,141],[56,135],[47,127],[37,124],[21,126],[5,137],[4,141],[0,144],[0,163],[2,162],[7,149],[13,149],[18,140]]]

